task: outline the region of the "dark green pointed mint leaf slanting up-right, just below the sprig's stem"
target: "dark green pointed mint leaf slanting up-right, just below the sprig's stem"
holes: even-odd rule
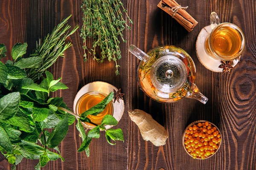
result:
[[[47,145],[49,148],[58,146],[58,144],[64,139],[68,130],[68,120],[67,117],[61,120],[61,122],[56,125],[52,133],[50,134]]]

